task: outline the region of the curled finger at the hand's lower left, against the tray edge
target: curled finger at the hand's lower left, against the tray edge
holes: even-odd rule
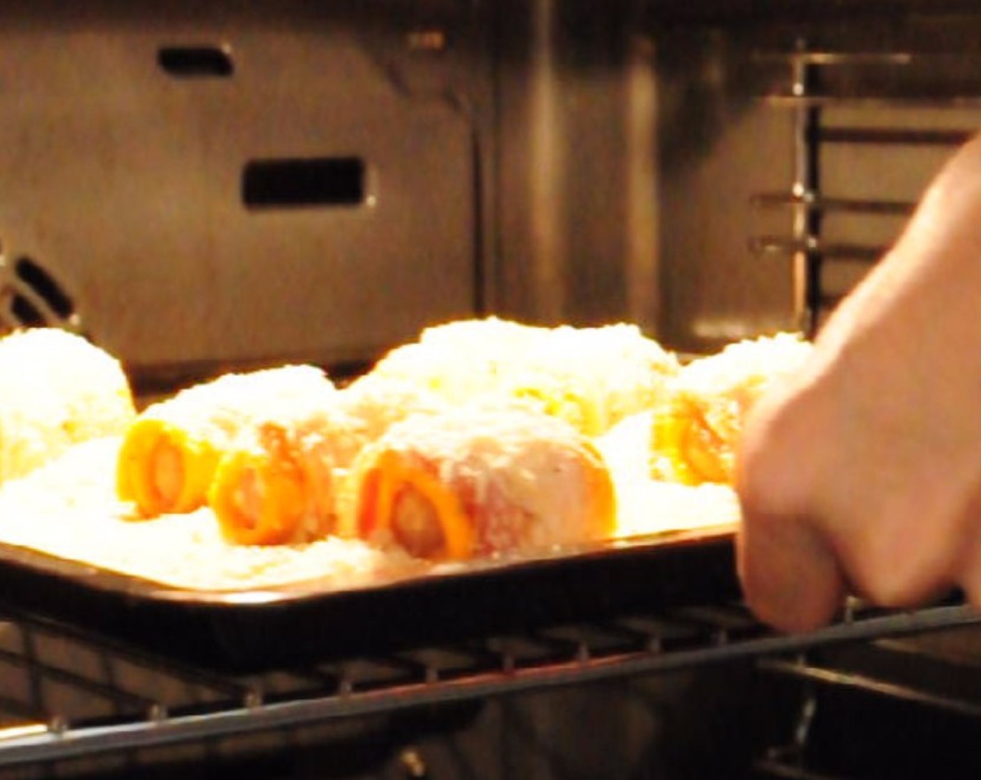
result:
[[[749,608],[780,631],[802,633],[826,625],[847,593],[833,550],[798,518],[745,517],[737,565]]]

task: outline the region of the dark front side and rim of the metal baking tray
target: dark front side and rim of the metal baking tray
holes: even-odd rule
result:
[[[195,591],[0,544],[0,606],[231,673],[467,642],[739,596],[730,525],[536,557],[419,565],[338,587]]]

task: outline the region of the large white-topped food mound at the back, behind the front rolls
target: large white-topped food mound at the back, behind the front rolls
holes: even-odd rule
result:
[[[507,398],[588,436],[658,401],[680,370],[634,325],[544,328],[493,317],[429,328],[372,370],[421,384],[449,403]]]

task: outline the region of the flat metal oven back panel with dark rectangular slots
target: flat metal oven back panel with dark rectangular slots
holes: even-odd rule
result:
[[[458,6],[4,3],[8,324],[138,374],[357,360],[472,314]]]

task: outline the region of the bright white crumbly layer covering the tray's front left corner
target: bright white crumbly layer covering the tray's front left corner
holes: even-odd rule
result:
[[[82,442],[0,487],[0,543],[81,561],[81,583],[93,582],[96,567],[194,591],[307,580],[342,590],[376,584],[415,563],[337,537],[305,545],[230,545],[207,507],[134,523],[131,506],[113,485],[118,448],[118,437]]]

